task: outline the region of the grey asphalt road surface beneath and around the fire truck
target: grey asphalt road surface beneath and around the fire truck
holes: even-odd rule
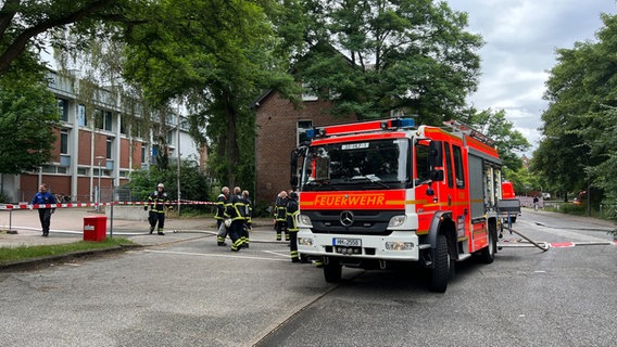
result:
[[[285,244],[236,254],[210,234],[3,271],[0,346],[617,345],[609,226],[526,210],[515,228],[575,246],[506,234],[493,264],[457,264],[444,294],[418,270],[345,268],[327,284]]]

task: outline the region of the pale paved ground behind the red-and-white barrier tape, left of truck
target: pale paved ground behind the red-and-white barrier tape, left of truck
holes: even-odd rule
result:
[[[91,208],[58,208],[51,216],[51,229],[48,237],[41,236],[41,228],[36,210],[17,209],[0,211],[0,248],[35,245],[73,243],[84,240],[84,217],[104,216]],[[272,221],[267,218],[253,220],[251,242],[276,242]],[[7,233],[11,230],[16,234]],[[214,218],[174,218],[165,220],[165,235],[150,234],[148,221],[122,220],[108,218],[108,237],[122,236],[142,246],[155,246],[194,237],[216,237]]]

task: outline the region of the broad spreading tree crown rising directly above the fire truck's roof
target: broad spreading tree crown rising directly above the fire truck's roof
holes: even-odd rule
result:
[[[391,111],[423,124],[456,118],[476,90],[481,38],[465,13],[429,0],[306,0],[308,53],[300,79],[361,119]],[[340,52],[340,53],[337,53]],[[304,53],[304,52],[300,52]]]

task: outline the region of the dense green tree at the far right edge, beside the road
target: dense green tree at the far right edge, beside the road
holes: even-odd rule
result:
[[[544,139],[533,153],[532,169],[564,192],[600,188],[592,206],[614,203],[617,166],[614,139],[617,106],[617,16],[603,14],[597,41],[557,50],[542,114]],[[604,196],[602,191],[607,192]],[[567,197],[566,197],[567,198]]]

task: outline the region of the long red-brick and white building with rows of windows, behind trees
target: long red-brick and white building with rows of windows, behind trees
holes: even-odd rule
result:
[[[135,170],[155,164],[158,143],[151,127],[140,127],[123,115],[121,98],[104,88],[97,89],[95,114],[86,114],[70,79],[50,72],[49,89],[58,100],[61,126],[54,129],[52,162],[38,170],[1,175],[2,192],[10,202],[29,202],[41,182],[65,201],[95,203],[111,200],[112,188],[128,182]],[[135,118],[135,117],[134,117]],[[203,164],[205,151],[198,150],[179,114],[166,117],[169,163],[194,159]],[[136,128],[135,128],[136,127]],[[142,129],[141,129],[142,128]]]

